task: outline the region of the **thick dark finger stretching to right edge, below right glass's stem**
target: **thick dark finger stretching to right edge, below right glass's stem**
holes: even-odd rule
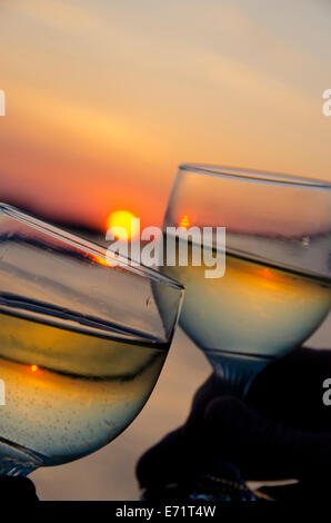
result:
[[[208,461],[227,458],[245,478],[321,476],[331,465],[330,433],[287,427],[232,397],[208,405],[203,434]]]

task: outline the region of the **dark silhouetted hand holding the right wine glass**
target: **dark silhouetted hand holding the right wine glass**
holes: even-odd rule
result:
[[[327,378],[331,351],[309,348],[267,366],[244,402],[221,395],[212,374],[195,393],[184,425],[140,458],[141,487],[153,497],[163,495],[167,485],[180,485],[177,492],[185,496],[199,490],[199,478],[203,491],[202,476],[240,483],[242,475],[299,480],[294,486],[269,490],[273,497],[322,495],[330,487],[331,468],[331,406],[323,403]]]

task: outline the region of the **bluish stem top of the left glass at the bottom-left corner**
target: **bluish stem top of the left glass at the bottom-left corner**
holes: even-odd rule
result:
[[[27,476],[43,463],[42,455],[0,437],[0,475]]]

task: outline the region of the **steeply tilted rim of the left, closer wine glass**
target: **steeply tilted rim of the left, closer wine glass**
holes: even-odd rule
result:
[[[123,256],[120,256],[118,258],[116,256],[111,256],[107,253],[108,249],[106,247],[102,247],[99,244],[96,244],[93,241],[90,241],[86,238],[80,237],[79,235],[69,233],[66,229],[51,225],[47,221],[43,221],[42,219],[36,218],[29,213],[18,209],[17,207],[13,207],[9,204],[0,201],[0,211],[4,213],[7,216],[10,216],[11,218],[18,221],[23,223],[24,225],[29,227],[41,230],[48,236],[52,236],[53,238],[57,238],[62,243],[83,249],[89,254],[99,256],[103,258],[106,262],[108,258],[111,258],[116,265],[123,267],[126,270],[132,274],[153,280],[158,284],[165,285],[171,288],[175,288],[177,290],[184,290],[184,285],[171,278],[170,276],[165,276],[159,273],[158,270],[141,264],[140,262],[131,260],[131,258],[129,257],[124,258]],[[130,262],[132,262],[134,266],[131,265]],[[110,265],[108,267],[111,268]]]

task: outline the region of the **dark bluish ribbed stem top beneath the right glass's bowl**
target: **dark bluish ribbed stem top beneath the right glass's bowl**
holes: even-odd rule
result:
[[[207,357],[220,382],[221,394],[244,398],[255,376],[269,358],[208,351]]]

